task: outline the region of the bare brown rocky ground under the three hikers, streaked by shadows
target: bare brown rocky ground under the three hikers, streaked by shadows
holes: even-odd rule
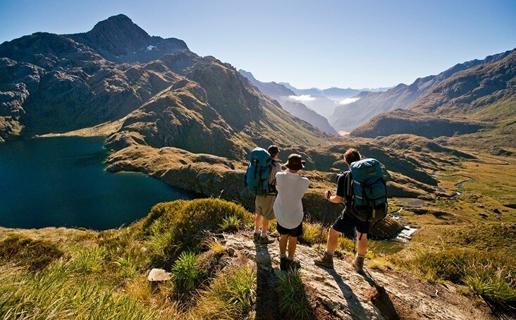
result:
[[[266,247],[255,244],[250,234],[239,234],[227,235],[226,246],[257,261],[257,319],[276,319],[277,293],[271,291],[281,272],[278,242]],[[313,263],[318,256],[317,250],[297,246],[307,291],[326,309],[326,316],[318,319],[493,319],[481,300],[460,295],[450,286],[422,283],[398,271],[369,270],[369,276],[360,276],[349,261],[340,259],[335,270],[319,268]]]

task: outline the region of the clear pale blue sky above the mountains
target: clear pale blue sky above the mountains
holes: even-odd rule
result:
[[[0,0],[0,42],[123,13],[258,80],[386,87],[516,47],[516,1]]]

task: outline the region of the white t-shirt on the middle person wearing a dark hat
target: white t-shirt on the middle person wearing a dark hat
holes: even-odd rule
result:
[[[283,228],[293,229],[303,220],[301,198],[308,190],[309,180],[298,173],[281,171],[276,173],[278,197],[274,201],[274,216]]]

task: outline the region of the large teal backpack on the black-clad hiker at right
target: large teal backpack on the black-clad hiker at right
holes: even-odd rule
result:
[[[347,204],[361,221],[375,224],[387,216],[387,186],[376,159],[364,159],[351,164],[347,188]]]

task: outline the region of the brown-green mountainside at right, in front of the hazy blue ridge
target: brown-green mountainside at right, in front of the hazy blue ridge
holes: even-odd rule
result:
[[[414,99],[407,99],[409,105],[403,105],[408,107],[407,111],[382,113],[351,134],[377,137],[412,133],[438,137],[489,128],[479,133],[477,142],[496,141],[498,146],[516,147],[516,49],[456,65],[439,75],[418,79],[411,86],[410,99]],[[400,92],[410,90],[403,89]],[[401,101],[400,97],[403,94],[398,94],[396,101]],[[483,140],[486,135],[498,138]]]

